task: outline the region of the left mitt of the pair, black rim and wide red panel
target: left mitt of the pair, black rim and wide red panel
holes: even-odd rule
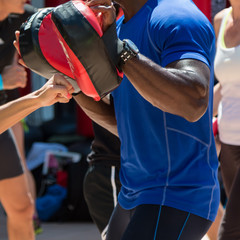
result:
[[[53,8],[40,10],[23,23],[19,36],[20,55],[33,72],[45,78],[62,73],[71,82],[75,92],[79,92],[78,84],[54,31],[52,10]]]

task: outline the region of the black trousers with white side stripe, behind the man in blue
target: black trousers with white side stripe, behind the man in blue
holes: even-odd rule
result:
[[[90,166],[83,187],[89,213],[102,239],[105,239],[108,222],[117,205],[117,195],[121,187],[119,167],[106,166],[102,163]]]

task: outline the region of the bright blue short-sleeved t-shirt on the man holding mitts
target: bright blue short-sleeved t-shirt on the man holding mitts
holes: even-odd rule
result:
[[[162,204],[214,220],[219,185],[212,133],[215,37],[210,22],[190,0],[149,0],[127,23],[121,18],[117,31],[120,39],[131,39],[141,54],[162,67],[191,58],[211,69],[209,107],[194,123],[151,105],[126,76],[113,91],[121,139],[120,205],[131,209]]]

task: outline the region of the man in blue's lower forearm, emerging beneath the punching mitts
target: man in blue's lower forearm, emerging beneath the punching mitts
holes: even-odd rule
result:
[[[96,102],[83,93],[78,94],[74,99],[89,118],[118,136],[113,104],[107,104],[102,100]]]

